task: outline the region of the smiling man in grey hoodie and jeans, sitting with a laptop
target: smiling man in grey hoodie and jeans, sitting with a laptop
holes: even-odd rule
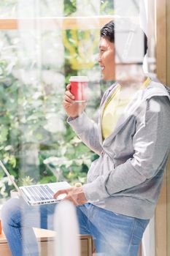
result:
[[[98,62],[104,80],[115,80],[115,24],[101,29]],[[128,84],[128,86],[127,86]],[[136,86],[134,86],[134,84]],[[132,86],[131,86],[132,85]],[[127,94],[127,88],[131,95]],[[88,171],[88,183],[57,192],[77,206],[80,233],[93,236],[96,252],[137,256],[158,200],[169,155],[170,97],[161,83],[140,75],[113,83],[101,99],[99,123],[74,102],[67,86],[63,101],[69,124],[99,158]],[[40,206],[41,227],[53,228],[55,205]],[[31,227],[38,213],[19,199],[2,212],[4,233],[13,256],[38,255]],[[23,236],[24,234],[24,236]]]

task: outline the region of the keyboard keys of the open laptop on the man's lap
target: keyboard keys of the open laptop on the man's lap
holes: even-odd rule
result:
[[[28,194],[26,196],[29,200],[42,201],[53,199],[54,192],[47,185],[39,185],[35,187],[24,187]],[[23,191],[24,192],[24,191]],[[29,195],[29,196],[28,196]]]

